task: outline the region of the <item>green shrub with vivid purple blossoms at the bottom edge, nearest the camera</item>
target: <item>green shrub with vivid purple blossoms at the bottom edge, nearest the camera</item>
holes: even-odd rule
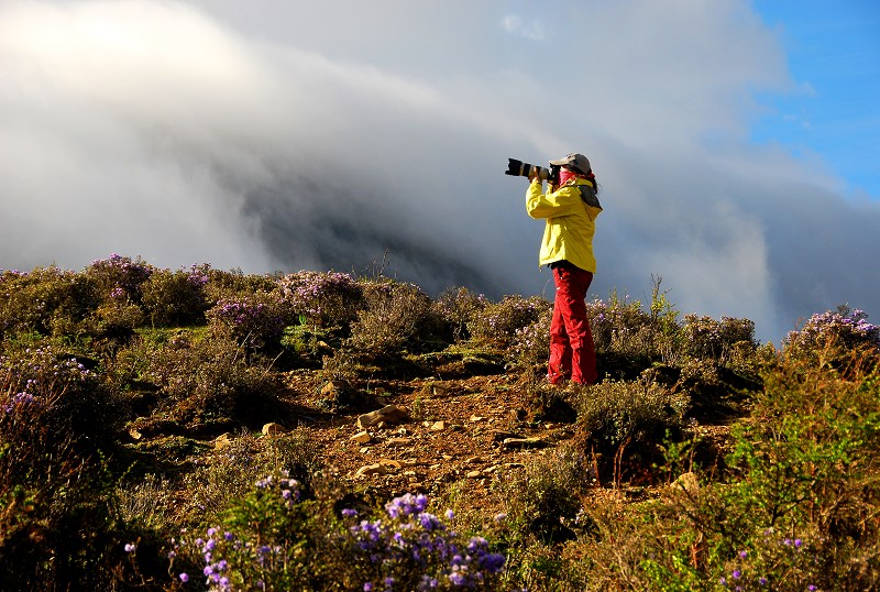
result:
[[[427,512],[424,495],[386,504],[386,515],[342,520],[327,504],[302,500],[300,483],[282,471],[232,502],[204,537],[175,541],[174,562],[188,562],[215,590],[494,590],[504,557],[482,537],[451,530]],[[451,518],[451,514],[447,518]]]

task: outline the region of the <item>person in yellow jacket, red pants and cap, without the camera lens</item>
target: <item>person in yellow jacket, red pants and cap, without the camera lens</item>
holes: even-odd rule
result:
[[[569,154],[550,161],[559,168],[543,191],[540,174],[529,174],[526,211],[531,218],[547,220],[539,264],[553,271],[557,294],[550,325],[550,363],[547,379],[559,384],[570,379],[576,384],[594,384],[596,351],[586,318],[586,290],[596,271],[593,232],[602,212],[596,177],[583,154]]]

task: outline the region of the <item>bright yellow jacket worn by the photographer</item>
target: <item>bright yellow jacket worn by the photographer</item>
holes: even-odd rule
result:
[[[583,194],[586,199],[582,199],[579,185],[585,186]],[[547,219],[539,265],[565,260],[587,272],[596,272],[593,233],[602,206],[592,183],[574,178],[556,191],[548,189],[546,194],[540,183],[530,183],[526,190],[526,211],[535,219]]]

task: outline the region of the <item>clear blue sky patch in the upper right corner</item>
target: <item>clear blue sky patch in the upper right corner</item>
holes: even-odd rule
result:
[[[794,88],[766,96],[756,142],[820,154],[848,194],[880,199],[880,2],[756,0],[778,33]]]

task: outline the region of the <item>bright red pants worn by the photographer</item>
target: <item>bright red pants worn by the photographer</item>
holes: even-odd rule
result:
[[[571,377],[579,384],[594,384],[596,349],[586,320],[586,290],[593,274],[574,266],[553,270],[557,296],[550,324],[550,364],[547,377],[552,384]]]

